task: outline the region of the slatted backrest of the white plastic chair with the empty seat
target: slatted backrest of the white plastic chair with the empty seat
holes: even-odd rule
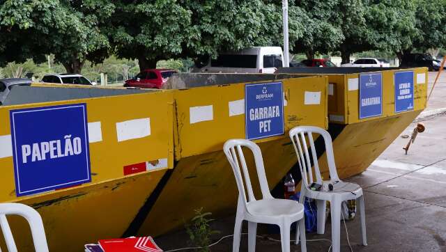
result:
[[[262,192],[263,198],[272,198],[270,194],[270,189],[268,188],[268,181],[266,180],[265,167],[263,166],[262,153],[259,145],[256,143],[245,140],[245,139],[231,139],[226,141],[223,146],[224,154],[228,158],[229,164],[231,164],[232,170],[236,177],[237,187],[239,197],[242,197],[245,204],[252,200],[256,200],[254,193],[252,191],[251,179],[249,178],[249,173],[245,161],[245,156],[243,155],[242,148],[246,147],[252,151],[254,155],[254,162],[256,164],[257,177],[259,177],[259,184]],[[241,171],[240,171],[241,165]],[[242,176],[243,171],[243,176]],[[247,196],[245,192],[245,187],[243,184],[243,178],[245,178],[245,185],[247,190]]]

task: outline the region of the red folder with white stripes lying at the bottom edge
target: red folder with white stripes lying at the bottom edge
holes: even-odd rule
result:
[[[105,252],[162,252],[152,237],[131,237],[125,239],[100,239],[99,245]]]

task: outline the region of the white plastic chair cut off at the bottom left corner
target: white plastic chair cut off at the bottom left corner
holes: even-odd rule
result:
[[[11,232],[8,220],[6,219],[6,215],[10,214],[20,215],[28,221],[29,226],[31,227],[31,234],[33,235],[34,249],[36,249],[36,252],[48,252],[47,238],[45,237],[45,230],[43,228],[40,214],[27,205],[19,203],[0,203],[0,226],[3,236],[5,237],[8,251],[17,252],[13,233]]]

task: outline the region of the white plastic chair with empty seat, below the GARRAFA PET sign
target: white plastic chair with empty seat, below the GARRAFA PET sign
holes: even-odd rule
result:
[[[259,177],[259,184],[263,196],[260,200],[256,200],[254,197],[242,147],[249,148],[254,155],[257,176]],[[305,228],[303,205],[294,200],[272,198],[270,189],[268,188],[268,181],[266,180],[261,150],[256,143],[245,139],[232,139],[224,143],[223,149],[232,166],[238,187],[238,204],[232,251],[238,252],[240,249],[242,223],[246,220],[248,221],[249,252],[254,252],[256,249],[257,223],[269,223],[280,226],[282,252],[289,252],[291,223],[298,221],[299,226]],[[245,181],[243,181],[239,164],[242,166]],[[243,182],[246,185],[247,196]],[[302,239],[300,245],[302,251],[307,251],[305,232],[302,232],[300,239]]]

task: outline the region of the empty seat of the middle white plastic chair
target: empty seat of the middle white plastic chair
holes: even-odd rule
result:
[[[249,202],[247,210],[249,214],[260,216],[298,216],[303,214],[304,206],[295,200],[272,198]]]

